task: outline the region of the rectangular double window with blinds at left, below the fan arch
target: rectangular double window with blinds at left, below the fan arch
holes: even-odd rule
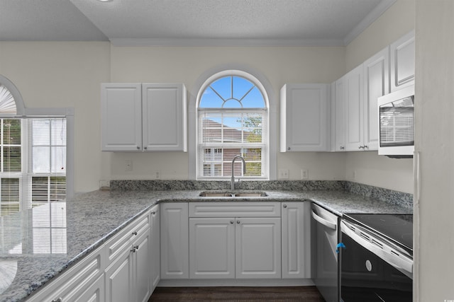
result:
[[[0,215],[66,197],[65,118],[0,119]]]

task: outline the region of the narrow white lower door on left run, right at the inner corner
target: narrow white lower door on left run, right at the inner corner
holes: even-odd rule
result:
[[[151,291],[153,292],[160,281],[160,205],[151,209]]]

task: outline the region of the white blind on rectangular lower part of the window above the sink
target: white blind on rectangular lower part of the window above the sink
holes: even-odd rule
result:
[[[199,109],[199,179],[230,178],[231,161],[236,161],[233,171],[243,178],[267,178],[267,110],[248,109]]]

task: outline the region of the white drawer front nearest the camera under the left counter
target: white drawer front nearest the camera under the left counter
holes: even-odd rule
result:
[[[105,252],[103,245],[45,286],[42,291],[38,291],[28,301],[57,301],[58,298],[61,298],[61,301],[80,301],[79,298],[103,274],[106,268]]]

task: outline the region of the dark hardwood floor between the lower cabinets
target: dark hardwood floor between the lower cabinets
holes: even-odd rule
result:
[[[315,286],[157,287],[148,302],[160,301],[304,301],[324,302]]]

